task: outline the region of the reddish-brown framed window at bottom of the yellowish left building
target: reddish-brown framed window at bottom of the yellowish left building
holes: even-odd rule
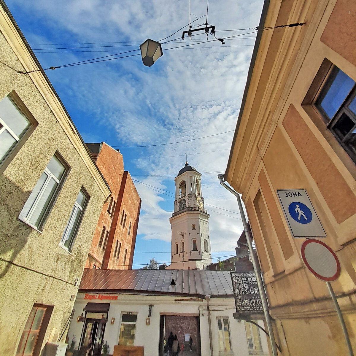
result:
[[[37,356],[40,354],[52,309],[43,305],[33,305],[22,331],[16,356]]]

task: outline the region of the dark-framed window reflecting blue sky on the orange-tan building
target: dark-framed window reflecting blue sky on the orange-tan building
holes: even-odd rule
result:
[[[325,61],[323,66],[325,67]],[[326,128],[356,162],[355,80],[331,64],[313,105],[323,117]]]

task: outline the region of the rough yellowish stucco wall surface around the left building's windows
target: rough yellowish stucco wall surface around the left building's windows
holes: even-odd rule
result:
[[[5,162],[5,169],[0,167],[0,257],[63,280],[0,261],[0,352],[13,356],[34,303],[54,306],[44,342],[49,337],[57,340],[73,308],[74,301],[71,302],[70,297],[78,291],[73,283],[82,275],[96,222],[110,192],[105,189],[104,180],[98,180],[98,172],[94,171],[94,164],[90,166],[89,155],[85,157],[85,148],[80,146],[75,132],[64,131],[69,120],[61,119],[63,109],[56,112],[49,107],[49,101],[58,104],[58,99],[49,90],[44,97],[40,91],[43,93],[46,86],[39,89],[35,85],[41,80],[46,83],[41,73],[31,76],[16,72],[23,71],[21,62],[30,62],[31,57],[21,41],[14,40],[11,46],[7,42],[6,38],[16,37],[16,30],[1,8],[0,30],[0,61],[6,64],[0,63],[0,100],[15,90],[38,122],[11,162]],[[17,53],[22,47],[21,62],[13,50],[15,47]],[[70,170],[40,233],[20,221],[18,216],[56,151]],[[90,200],[73,251],[69,253],[59,246],[59,241],[82,186]]]

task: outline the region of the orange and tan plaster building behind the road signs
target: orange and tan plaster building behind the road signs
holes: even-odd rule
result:
[[[265,1],[224,175],[245,202],[283,355],[348,355],[279,201],[287,189],[305,189],[340,259],[332,286],[356,350],[355,19],[355,1]],[[291,23],[303,25],[274,28]]]

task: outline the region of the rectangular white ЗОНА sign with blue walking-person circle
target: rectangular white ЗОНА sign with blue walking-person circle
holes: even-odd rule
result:
[[[326,236],[305,189],[278,189],[277,194],[293,237]]]

